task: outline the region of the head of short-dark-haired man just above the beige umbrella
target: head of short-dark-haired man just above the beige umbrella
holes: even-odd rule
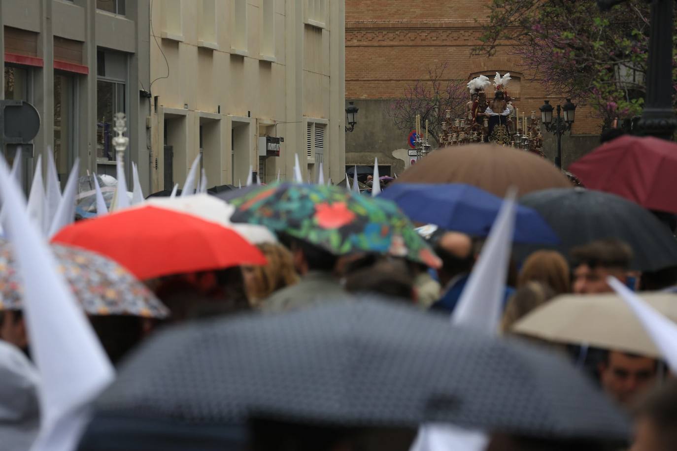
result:
[[[573,292],[576,294],[612,291],[607,277],[626,281],[632,262],[632,249],[623,241],[605,239],[575,247],[571,251]]]

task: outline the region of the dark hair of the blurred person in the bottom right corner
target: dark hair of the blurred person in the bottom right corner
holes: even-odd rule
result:
[[[649,394],[638,408],[638,417],[646,417],[656,431],[657,450],[672,450],[677,443],[677,381],[670,379]]]

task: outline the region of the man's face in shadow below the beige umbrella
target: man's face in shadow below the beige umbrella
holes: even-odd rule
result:
[[[599,365],[600,382],[604,390],[619,404],[630,406],[639,394],[653,386],[656,360],[609,352],[609,361]]]

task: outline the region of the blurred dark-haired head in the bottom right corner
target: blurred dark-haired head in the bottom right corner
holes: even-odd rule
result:
[[[677,381],[654,391],[636,410],[630,451],[670,451],[677,444]]]

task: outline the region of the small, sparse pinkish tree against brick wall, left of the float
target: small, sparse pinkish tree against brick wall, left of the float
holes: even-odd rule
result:
[[[423,128],[428,120],[428,132],[438,146],[442,122],[446,120],[445,111],[451,110],[452,118],[462,118],[465,104],[470,100],[466,82],[443,78],[446,68],[446,64],[430,68],[427,80],[418,80],[406,87],[403,97],[388,106],[388,116],[393,118],[399,130],[412,130],[416,114],[421,115]],[[424,131],[425,128],[422,133]]]

